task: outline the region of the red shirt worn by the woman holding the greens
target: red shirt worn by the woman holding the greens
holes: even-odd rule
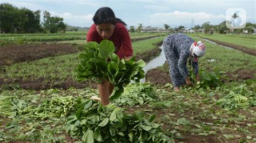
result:
[[[102,40],[104,40],[98,34],[95,24],[93,24],[90,27],[90,29],[86,35],[86,40],[87,40],[87,42],[95,41],[95,42],[98,42],[98,44]],[[107,40],[110,40],[113,42],[114,46],[117,49],[117,51],[114,53],[116,53],[120,59],[124,58],[124,56],[132,56],[133,55],[131,38],[130,38],[129,32],[127,31],[126,27],[123,24],[117,23],[116,27],[114,27],[113,34]]]

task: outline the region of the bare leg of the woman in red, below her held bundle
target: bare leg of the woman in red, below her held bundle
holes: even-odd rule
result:
[[[108,105],[109,101],[109,82],[103,81],[101,84],[97,84],[99,89],[99,97],[103,105]]]

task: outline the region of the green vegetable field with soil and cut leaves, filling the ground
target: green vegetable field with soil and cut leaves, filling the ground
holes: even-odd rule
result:
[[[125,61],[110,41],[86,42],[86,32],[0,34],[0,141],[256,141],[255,55],[202,39],[255,49],[255,35],[188,34],[207,52],[200,82],[190,74],[193,87],[179,93],[167,63],[143,70],[167,34],[130,35],[134,56]],[[107,106],[91,99],[103,80],[115,87]]]

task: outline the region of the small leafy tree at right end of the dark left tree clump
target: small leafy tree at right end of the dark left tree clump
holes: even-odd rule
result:
[[[50,33],[57,33],[58,31],[62,31],[65,33],[66,25],[63,22],[63,18],[61,17],[51,17],[50,12],[44,11],[44,28],[46,31]]]

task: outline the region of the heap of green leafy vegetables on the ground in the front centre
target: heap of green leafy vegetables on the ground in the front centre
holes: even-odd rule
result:
[[[103,106],[91,99],[78,104],[77,112],[66,123],[72,138],[85,142],[171,142],[160,126],[147,120],[143,112],[126,114],[113,103]]]

